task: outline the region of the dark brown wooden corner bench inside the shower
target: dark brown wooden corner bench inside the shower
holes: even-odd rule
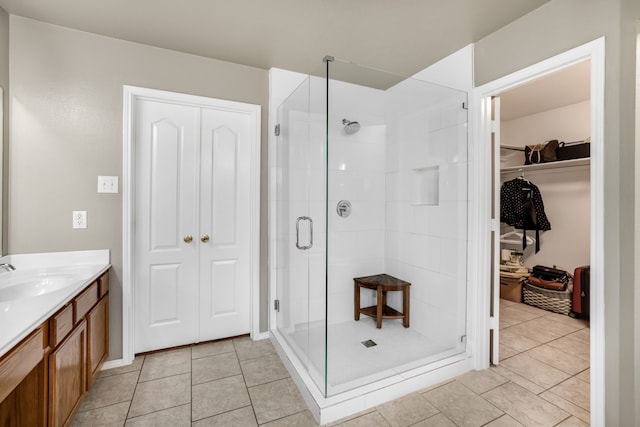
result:
[[[376,327],[382,327],[382,319],[402,319],[402,325],[409,327],[409,286],[411,283],[397,279],[388,274],[356,277],[353,279],[354,315],[360,320],[360,314],[375,317]],[[373,289],[377,292],[376,305],[360,308],[360,288]],[[387,305],[388,291],[402,291],[402,313]]]

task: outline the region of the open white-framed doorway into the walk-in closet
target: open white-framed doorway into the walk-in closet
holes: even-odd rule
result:
[[[594,425],[604,420],[603,60],[604,40],[599,39],[487,83],[476,92],[482,143],[478,170],[482,180],[479,184],[479,249],[482,251],[490,245],[490,250],[484,249],[478,258],[480,277],[490,279],[490,285],[482,287],[480,293],[480,298],[486,297],[485,301],[490,302],[479,309],[488,319],[484,321],[488,332],[480,331],[480,335],[486,337],[486,344],[480,343],[481,349],[486,345],[484,367],[490,363],[497,365],[496,369],[507,376],[513,375],[520,381],[518,384],[530,392],[542,398],[557,399],[559,403],[552,403],[565,405],[565,411],[571,408],[575,412],[569,411],[572,415]],[[573,74],[570,81],[567,80],[566,75],[580,73],[581,67],[583,72],[587,71],[584,79]],[[554,79],[559,83],[555,83],[550,94],[543,85],[552,85]],[[577,84],[580,81],[583,83]],[[572,86],[578,86],[576,93],[581,90],[584,93],[586,89],[588,97],[572,94]],[[513,110],[518,108],[517,95],[522,97],[523,93],[526,94],[526,109],[536,104],[536,98],[541,99],[538,102],[550,102],[553,98],[564,98],[565,101],[526,114],[514,114]],[[569,117],[574,117],[576,123],[567,126]],[[545,122],[545,118],[549,121]],[[547,131],[557,136],[543,135]],[[591,156],[568,160],[564,164],[557,161],[557,164],[550,162],[532,167],[523,165],[525,153],[519,149],[551,139],[567,142],[590,139]],[[503,154],[511,152],[504,156],[505,159],[500,156],[501,145]],[[535,231],[529,230],[523,236],[522,230],[506,228],[500,221],[501,184],[520,178],[539,187],[551,223],[551,229],[541,232],[537,242],[532,240],[536,238]],[[487,228],[484,228],[485,224]],[[569,233],[578,233],[580,237],[567,237]],[[528,240],[526,248],[522,247],[522,239]],[[505,244],[501,240],[509,242]],[[537,253],[536,243],[540,246]],[[562,244],[565,249],[560,251],[558,248]],[[504,258],[513,262],[522,258],[529,268],[555,265],[573,274],[576,267],[590,265],[589,320],[553,313],[534,307],[535,304],[525,305],[508,298],[501,300],[502,249],[519,249],[523,253],[521,257],[507,257],[505,252]],[[513,293],[518,296],[513,299],[522,298],[519,290]],[[578,343],[579,350],[568,345],[568,341]],[[544,371],[538,369],[542,367],[548,367],[546,373],[550,374],[545,376]],[[576,388],[571,390],[573,386]],[[581,398],[576,403],[570,394],[578,388],[580,391],[576,394]]]

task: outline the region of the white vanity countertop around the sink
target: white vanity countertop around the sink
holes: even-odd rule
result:
[[[16,282],[28,283],[49,275],[64,276],[69,284],[43,295],[0,298],[0,357],[111,267],[108,249],[8,255],[0,258],[1,263],[16,269],[0,270],[0,292]]]

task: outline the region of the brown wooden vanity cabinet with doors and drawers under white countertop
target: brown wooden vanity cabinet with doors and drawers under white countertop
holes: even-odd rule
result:
[[[73,416],[109,353],[109,273],[0,357],[0,426],[58,427]]]

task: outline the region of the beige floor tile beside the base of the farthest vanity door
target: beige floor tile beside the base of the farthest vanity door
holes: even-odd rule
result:
[[[87,411],[130,401],[136,389],[138,375],[139,372],[129,372],[127,374],[96,378],[80,410]]]

